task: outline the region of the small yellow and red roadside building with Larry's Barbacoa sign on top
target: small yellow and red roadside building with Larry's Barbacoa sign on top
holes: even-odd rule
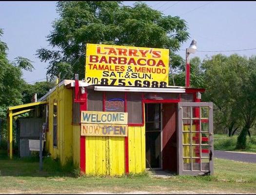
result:
[[[85,79],[62,80],[23,112],[40,104],[45,150],[85,174],[212,175],[213,104],[204,89],[168,86],[168,68],[167,49],[87,44]]]

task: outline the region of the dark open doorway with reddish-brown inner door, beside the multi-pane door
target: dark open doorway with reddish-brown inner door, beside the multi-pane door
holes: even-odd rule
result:
[[[177,172],[177,104],[145,104],[146,168]]]

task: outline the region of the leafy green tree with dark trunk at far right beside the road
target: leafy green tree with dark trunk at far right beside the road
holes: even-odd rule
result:
[[[242,127],[237,148],[246,147],[246,136],[256,118],[256,58],[215,55],[202,62],[205,70],[204,98],[213,101],[220,122],[231,132]]]

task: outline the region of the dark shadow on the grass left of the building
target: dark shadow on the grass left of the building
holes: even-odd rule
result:
[[[78,177],[79,170],[71,159],[62,166],[58,158],[52,159],[49,156],[43,158],[43,169],[39,171],[39,156],[22,158],[13,156],[10,160],[6,152],[0,150],[0,176]]]

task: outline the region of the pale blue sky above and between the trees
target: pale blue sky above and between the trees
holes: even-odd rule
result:
[[[133,6],[136,1],[123,1]],[[187,21],[190,38],[178,52],[185,58],[185,51],[192,39],[197,40],[197,53],[191,57],[201,59],[218,53],[237,53],[250,57],[255,50],[230,51],[256,48],[256,1],[143,1],[166,16],[179,16]],[[56,1],[0,1],[1,38],[9,48],[8,59],[21,56],[33,61],[35,70],[23,71],[29,82],[46,80],[47,62],[40,62],[36,50],[51,49],[46,36],[53,30],[52,22],[59,16]],[[206,51],[206,52],[205,52]]]

